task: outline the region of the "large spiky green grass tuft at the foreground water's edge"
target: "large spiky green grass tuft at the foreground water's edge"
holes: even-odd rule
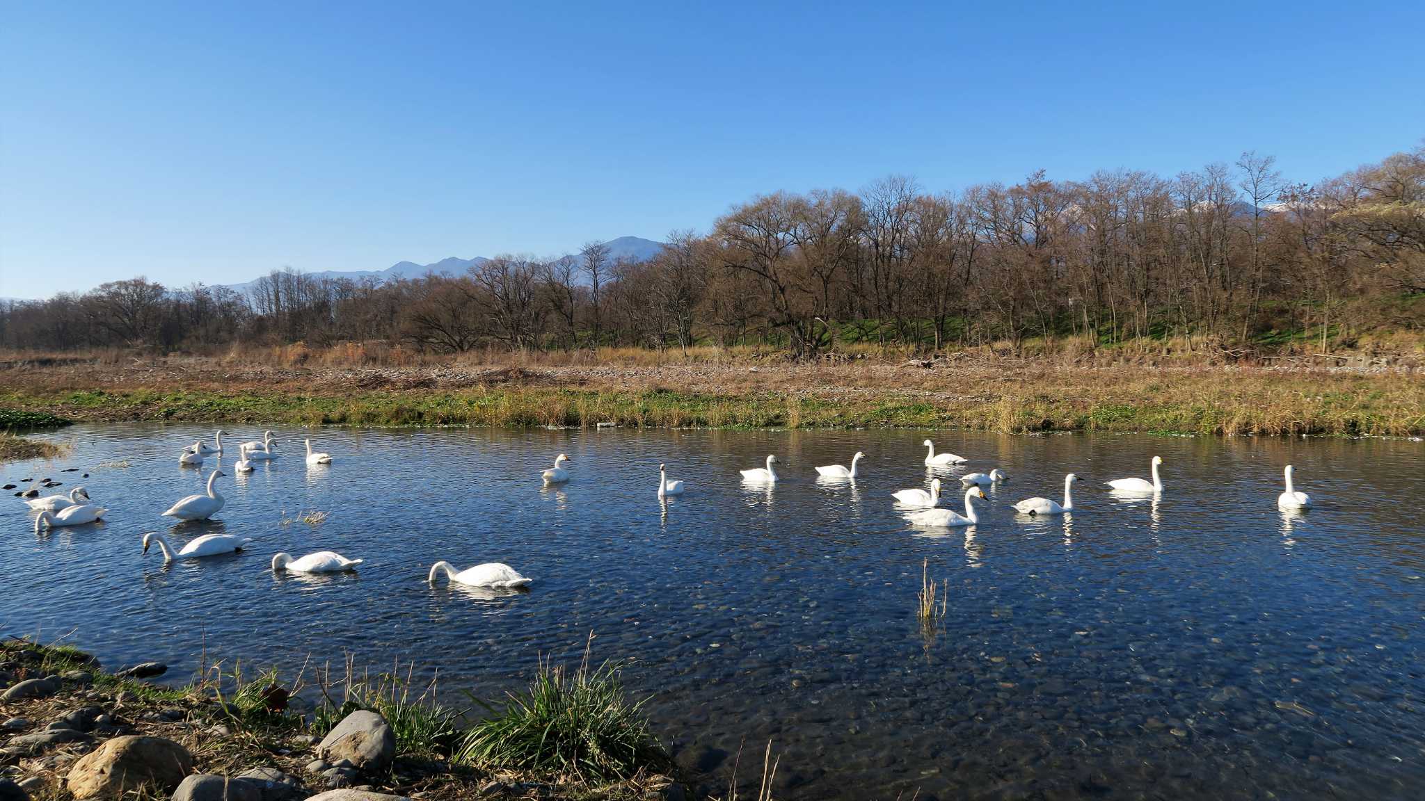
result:
[[[577,670],[542,661],[524,693],[470,728],[456,761],[492,771],[520,771],[553,780],[618,781],[664,771],[673,758],[643,713],[624,696],[618,666]]]

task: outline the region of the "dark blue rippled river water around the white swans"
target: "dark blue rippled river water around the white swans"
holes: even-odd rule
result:
[[[77,426],[50,435],[68,456],[0,466],[7,482],[81,483],[111,510],[36,536],[0,497],[0,631],[63,636],[111,667],[162,660],[178,680],[204,651],[289,674],[399,657],[456,704],[519,688],[542,656],[577,661],[593,633],[594,658],[626,661],[710,788],[740,747],[741,778],[758,781],[771,741],[785,798],[1425,795],[1421,443],[940,433],[972,459],[938,473],[946,506],[958,473],[1010,482],[986,487],[980,524],[928,532],[888,497],[926,486],[925,432],[278,432],[306,433],[333,465],[308,469],[286,445],[219,479],[209,526],[158,516],[217,463],[177,463],[205,429]],[[858,449],[854,485],[815,479]],[[574,477],[544,489],[559,452]],[[767,453],[784,482],[741,486]],[[1103,492],[1147,477],[1154,453],[1160,499]],[[688,485],[665,507],[658,462]],[[1288,462],[1318,503],[1304,515],[1275,509]],[[1059,499],[1069,470],[1079,512],[1013,513]],[[294,522],[304,510],[331,516]],[[164,567],[140,554],[147,530],[254,543]],[[268,570],[278,550],[319,549],[366,562]],[[534,584],[432,587],[439,559],[506,562]],[[948,587],[932,630],[915,616],[922,560]]]

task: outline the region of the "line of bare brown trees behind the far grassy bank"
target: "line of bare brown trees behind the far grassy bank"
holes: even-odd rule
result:
[[[1244,153],[1171,178],[1036,172],[929,192],[774,192],[648,261],[601,242],[500,255],[460,275],[329,279],[274,271],[251,291],[144,278],[0,305],[13,349],[204,349],[386,341],[423,351],[842,342],[945,348],[1083,336],[1265,341],[1268,332],[1418,329],[1425,145],[1320,184]]]

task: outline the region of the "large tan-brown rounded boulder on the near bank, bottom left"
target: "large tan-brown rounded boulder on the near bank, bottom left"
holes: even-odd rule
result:
[[[170,791],[190,772],[192,755],[178,743],[164,737],[124,735],[105,740],[74,763],[68,787],[76,798],[117,798],[141,784]]]

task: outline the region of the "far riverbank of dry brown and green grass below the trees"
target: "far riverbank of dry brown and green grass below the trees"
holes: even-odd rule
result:
[[[0,409],[84,422],[1425,433],[1418,368],[1074,366],[969,356],[306,368],[161,358],[9,362],[0,385]]]

